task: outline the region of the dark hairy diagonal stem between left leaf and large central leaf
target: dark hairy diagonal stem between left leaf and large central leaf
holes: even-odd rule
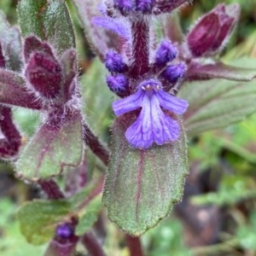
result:
[[[91,151],[96,154],[96,156],[102,160],[105,166],[108,166],[109,152],[98,138],[94,135],[88,125],[84,123],[84,142],[90,147]]]

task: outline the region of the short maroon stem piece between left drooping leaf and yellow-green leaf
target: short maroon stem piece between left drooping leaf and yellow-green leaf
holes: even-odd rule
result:
[[[48,196],[49,200],[65,198],[65,195],[62,193],[59,185],[55,183],[54,179],[40,179],[38,180],[38,184],[41,186],[41,189],[44,191],[44,193]]]

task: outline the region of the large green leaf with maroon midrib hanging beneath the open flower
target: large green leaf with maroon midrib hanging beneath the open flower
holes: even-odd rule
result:
[[[131,119],[121,116],[113,125],[113,151],[102,202],[110,220],[140,236],[182,199],[184,177],[189,172],[187,148],[183,131],[172,144],[131,148],[125,139],[127,120]]]

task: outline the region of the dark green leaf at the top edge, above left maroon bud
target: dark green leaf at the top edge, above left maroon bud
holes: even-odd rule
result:
[[[55,46],[57,54],[75,48],[73,24],[63,0],[21,0],[18,4],[24,37],[34,34]]]

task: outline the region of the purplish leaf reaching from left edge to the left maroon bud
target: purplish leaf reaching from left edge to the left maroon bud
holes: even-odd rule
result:
[[[0,103],[9,106],[40,109],[42,103],[26,88],[18,73],[0,69]]]

